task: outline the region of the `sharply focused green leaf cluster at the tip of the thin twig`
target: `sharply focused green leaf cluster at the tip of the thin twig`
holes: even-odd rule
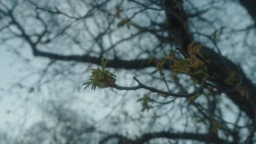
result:
[[[105,70],[107,61],[104,61],[104,58],[101,58],[101,67],[96,69],[91,69],[90,81],[83,83],[82,86],[85,86],[84,89],[88,88],[91,85],[91,89],[98,88],[107,88],[111,87],[115,83],[115,77],[113,73],[110,73],[110,70]]]

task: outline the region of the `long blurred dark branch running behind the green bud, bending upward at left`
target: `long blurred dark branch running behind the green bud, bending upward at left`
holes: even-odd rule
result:
[[[38,56],[38,57],[46,57],[50,59],[56,59],[56,60],[61,60],[61,61],[77,61],[77,62],[83,62],[83,63],[94,63],[97,65],[101,65],[101,57],[92,57],[87,54],[85,55],[61,55],[58,53],[52,53],[52,52],[45,52],[37,49],[37,42],[33,43],[31,40],[30,36],[26,33],[25,29],[22,28],[20,23],[15,20],[12,12],[10,11],[8,13],[10,16],[11,20],[13,21],[14,25],[18,27],[18,29],[21,32],[22,38],[24,38],[27,43],[30,45],[33,55]],[[108,67],[109,68],[123,68],[123,69],[143,69],[147,67],[156,67],[154,62],[149,62],[148,58],[145,59],[135,59],[135,60],[130,60],[126,61],[123,59],[107,59],[108,61]],[[170,69],[170,63],[166,63],[164,65],[165,69]]]

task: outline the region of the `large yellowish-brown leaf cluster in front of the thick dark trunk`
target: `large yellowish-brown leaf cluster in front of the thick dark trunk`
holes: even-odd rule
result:
[[[202,79],[203,77],[210,77],[207,72],[207,65],[204,61],[205,58],[200,52],[200,48],[203,45],[194,46],[194,41],[188,45],[189,58],[180,59],[174,61],[172,69],[175,73],[185,73],[196,79]]]

